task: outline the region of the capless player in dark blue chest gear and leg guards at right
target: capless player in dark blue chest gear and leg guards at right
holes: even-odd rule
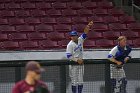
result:
[[[110,64],[112,93],[126,93],[127,80],[123,66],[131,58],[131,48],[125,36],[118,38],[118,45],[109,52],[108,58],[114,63]]]

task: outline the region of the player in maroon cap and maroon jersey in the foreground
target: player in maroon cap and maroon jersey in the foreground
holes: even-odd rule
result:
[[[26,64],[26,77],[15,84],[12,93],[49,93],[47,85],[39,80],[44,71],[40,64],[30,61]]]

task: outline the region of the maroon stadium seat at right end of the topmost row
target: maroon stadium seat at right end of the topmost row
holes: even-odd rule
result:
[[[111,9],[113,8],[113,4],[112,2],[108,2],[108,1],[102,1],[102,2],[98,2],[97,6],[103,9]]]

